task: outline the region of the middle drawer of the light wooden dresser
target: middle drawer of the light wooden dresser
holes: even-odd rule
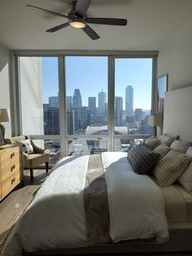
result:
[[[11,164],[2,168],[2,183],[10,179],[12,175],[20,173],[20,160],[16,159]]]

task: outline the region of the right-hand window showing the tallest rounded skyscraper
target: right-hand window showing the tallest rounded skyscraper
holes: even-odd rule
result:
[[[153,61],[151,58],[115,60],[115,139],[116,151],[133,148],[141,138],[123,135],[149,135],[147,116],[151,114]],[[121,139],[122,138],[122,139]]]

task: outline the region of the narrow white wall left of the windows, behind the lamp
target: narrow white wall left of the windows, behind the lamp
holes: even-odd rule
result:
[[[10,54],[9,51],[0,46],[0,108],[10,109]],[[5,137],[11,137],[11,121],[3,122],[6,128]]]

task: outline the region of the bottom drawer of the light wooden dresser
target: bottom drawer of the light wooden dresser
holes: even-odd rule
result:
[[[20,172],[16,172],[5,182],[2,182],[2,197],[7,196],[17,184],[20,183]]]

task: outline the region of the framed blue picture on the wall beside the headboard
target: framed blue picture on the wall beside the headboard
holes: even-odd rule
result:
[[[164,115],[164,93],[168,90],[168,74],[157,81],[157,114]]]

